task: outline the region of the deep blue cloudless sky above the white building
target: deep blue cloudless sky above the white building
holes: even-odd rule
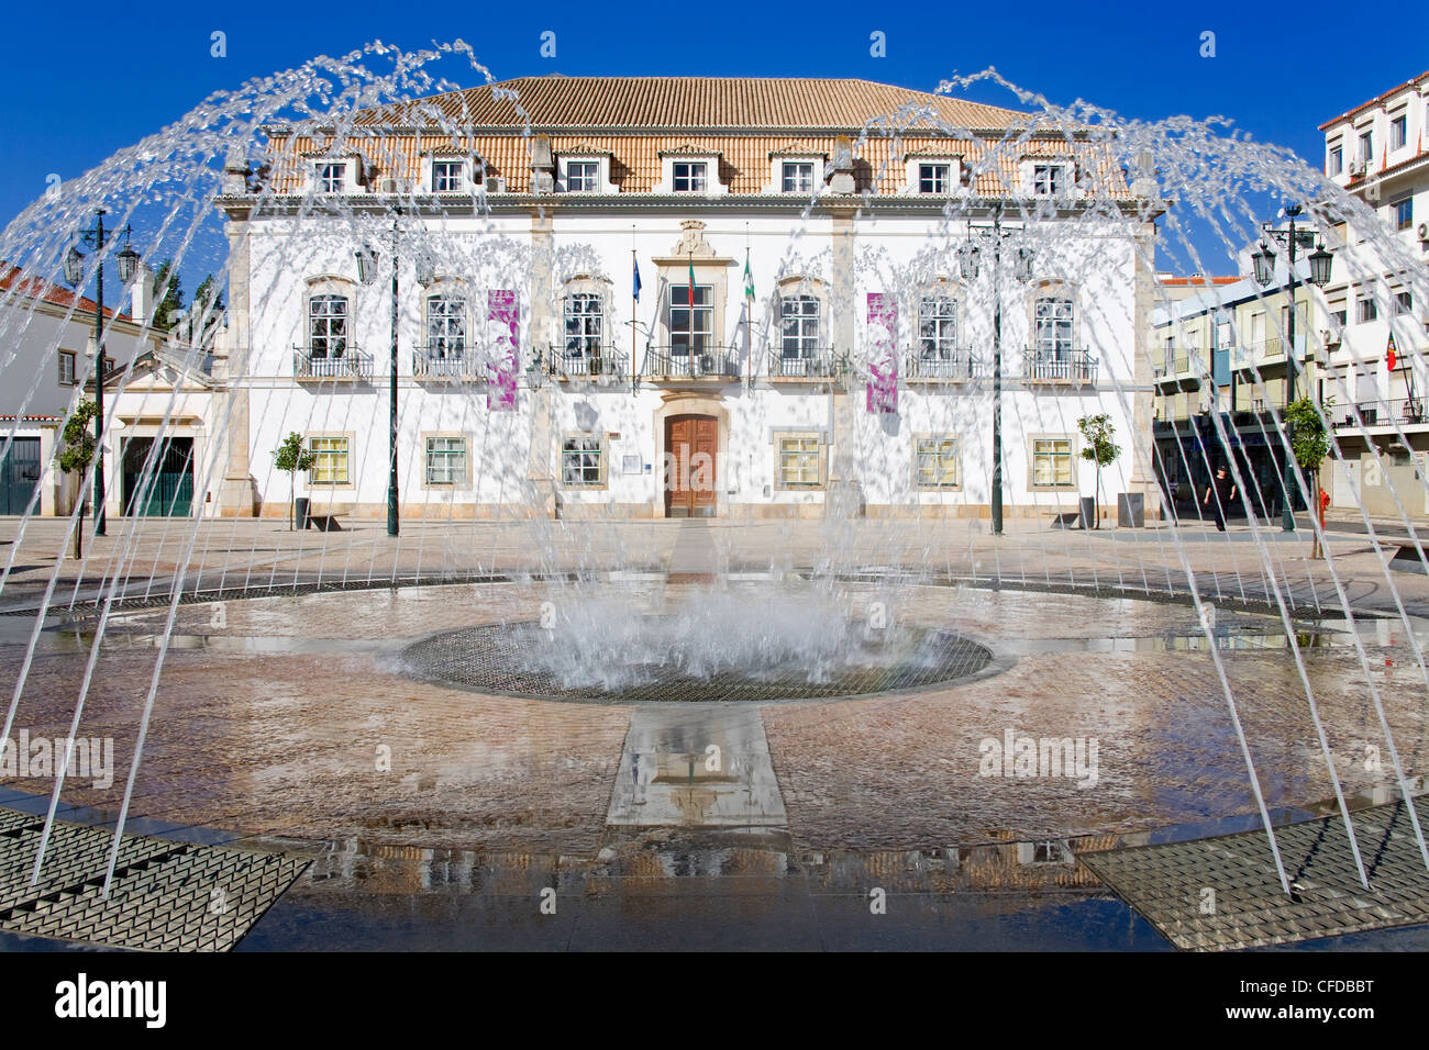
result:
[[[1413,10],[1418,7],[1419,13]],[[604,10],[602,10],[604,9]],[[969,10],[972,9],[972,10]],[[274,13],[276,11],[276,13]],[[717,11],[712,14],[712,11]],[[77,0],[6,13],[0,217],[157,130],[210,91],[343,54],[463,39],[499,79],[540,73],[866,77],[933,90],[996,66],[1056,103],[1127,117],[1220,114],[1319,163],[1318,124],[1429,67],[1429,6],[1099,4],[183,4]],[[226,34],[227,56],[210,54]],[[543,31],[556,57],[540,54]],[[886,57],[870,34],[886,36]],[[1200,56],[1202,33],[1216,54]],[[474,71],[443,70],[462,83]],[[975,94],[1010,104],[1003,91]],[[189,267],[186,267],[187,270]],[[200,274],[201,276],[201,274]],[[186,280],[191,290],[194,279]]]

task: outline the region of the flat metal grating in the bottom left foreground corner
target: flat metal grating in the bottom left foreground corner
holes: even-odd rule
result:
[[[43,819],[0,809],[0,929],[140,951],[226,951],[309,860],[124,836],[106,900],[113,831],[56,821],[30,886]]]

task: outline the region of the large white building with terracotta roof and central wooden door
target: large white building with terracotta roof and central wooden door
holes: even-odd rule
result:
[[[1107,500],[1155,513],[1162,201],[1127,180],[1087,129],[852,80],[530,77],[269,129],[217,201],[217,503],[286,514],[300,433],[313,511],[383,516],[394,409],[403,517],[986,517],[996,287],[1006,514],[1090,494],[1103,411]]]

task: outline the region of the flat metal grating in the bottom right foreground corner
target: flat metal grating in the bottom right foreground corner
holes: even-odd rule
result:
[[[1077,856],[1179,949],[1290,944],[1429,921],[1429,871],[1402,801],[1353,814],[1360,886],[1339,816],[1275,829],[1285,896],[1265,831]]]

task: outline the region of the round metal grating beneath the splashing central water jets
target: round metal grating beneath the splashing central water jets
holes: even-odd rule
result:
[[[896,661],[836,670],[810,679],[797,666],[686,674],[677,664],[644,664],[636,684],[610,690],[567,687],[546,670],[533,670],[524,656],[549,644],[546,631],[530,623],[460,627],[423,639],[402,653],[413,677],[463,686],[483,693],[540,696],[554,700],[639,701],[775,701],[863,696],[927,689],[970,674],[992,663],[992,651],[949,631],[919,630],[916,644]],[[876,654],[875,650],[870,653]]]

